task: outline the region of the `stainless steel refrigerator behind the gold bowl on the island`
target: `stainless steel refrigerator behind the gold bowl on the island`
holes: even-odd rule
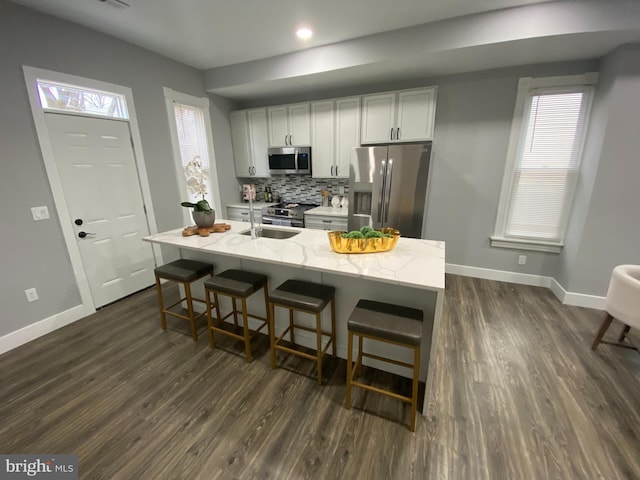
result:
[[[431,144],[356,147],[349,167],[349,230],[393,227],[421,238]]]

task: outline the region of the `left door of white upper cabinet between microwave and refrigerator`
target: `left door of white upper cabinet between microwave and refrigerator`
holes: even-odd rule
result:
[[[311,172],[314,178],[334,176],[334,117],[333,100],[311,103]]]

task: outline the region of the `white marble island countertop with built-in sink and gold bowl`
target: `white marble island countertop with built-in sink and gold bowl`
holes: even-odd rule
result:
[[[445,244],[434,240],[403,238],[390,252],[340,254],[331,250],[327,232],[308,228],[269,226],[295,230],[286,240],[240,235],[248,230],[245,222],[225,220],[231,230],[208,237],[182,236],[182,228],[145,237],[160,245],[229,255],[266,263],[307,268],[345,276],[403,285],[430,291],[444,291]],[[264,228],[264,227],[263,227]]]

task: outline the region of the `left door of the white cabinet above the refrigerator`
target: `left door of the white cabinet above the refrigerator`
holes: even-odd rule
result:
[[[382,93],[362,97],[363,144],[389,143],[395,135],[396,94]]]

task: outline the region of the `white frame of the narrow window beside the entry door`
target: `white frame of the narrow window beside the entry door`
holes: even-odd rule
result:
[[[209,111],[209,99],[206,97],[194,97],[186,93],[177,92],[171,88],[164,87],[164,97],[167,107],[167,116],[169,120],[169,130],[171,133],[171,144],[173,147],[174,166],[176,169],[176,180],[178,184],[178,193],[180,199],[187,200],[190,195],[187,191],[186,178],[184,176],[184,169],[182,167],[182,156],[180,154],[180,141],[178,139],[178,129],[175,120],[174,104],[187,105],[193,108],[199,108],[202,110],[204,117],[204,129],[207,143],[207,162],[209,165],[209,184],[211,185],[211,192],[208,192],[210,199],[209,203],[211,208],[216,212],[217,218],[224,216],[222,212],[222,202],[220,201],[220,183],[218,182],[218,172],[216,168],[215,153],[213,150],[213,130],[211,127],[211,115]],[[182,208],[182,216],[186,225],[191,225],[193,220],[191,218],[191,210]]]

